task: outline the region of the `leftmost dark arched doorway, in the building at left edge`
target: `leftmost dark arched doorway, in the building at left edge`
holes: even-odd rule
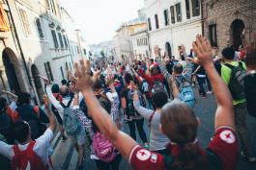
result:
[[[7,76],[11,91],[13,91],[13,90],[15,90],[15,92],[20,91],[20,86],[18,84],[16,73],[14,70],[14,64],[12,63],[6,50],[3,51],[2,60],[3,60],[4,66],[5,66],[5,72],[6,72],[6,76]]]

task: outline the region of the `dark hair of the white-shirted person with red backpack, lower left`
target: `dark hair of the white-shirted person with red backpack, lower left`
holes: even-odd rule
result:
[[[26,141],[29,134],[29,129],[28,123],[23,120],[18,120],[16,123],[14,123],[13,134],[18,143],[23,143]]]

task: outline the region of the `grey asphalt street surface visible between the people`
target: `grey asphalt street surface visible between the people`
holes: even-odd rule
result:
[[[196,101],[197,104],[195,105],[194,111],[196,113],[196,115],[200,118],[201,121],[201,125],[200,128],[198,130],[198,140],[200,143],[200,146],[205,148],[209,145],[209,143],[211,142],[211,136],[213,136],[214,134],[214,113],[215,113],[215,109],[216,109],[216,101],[214,98],[214,95],[208,95],[206,99],[202,99],[199,97],[199,95],[197,94],[197,90],[198,90],[198,85],[196,85],[195,87],[193,87],[193,92],[194,95],[196,97]],[[206,88],[206,90],[208,90]],[[249,134],[250,134],[250,141],[253,142],[256,140],[256,134],[253,133],[256,129],[256,124],[255,124],[256,119],[251,117],[251,116],[247,116],[247,126],[248,126],[248,130],[249,130]],[[128,129],[128,124],[124,123],[123,124],[123,130],[125,133],[129,134],[129,129]],[[144,121],[144,130],[147,134],[147,138],[149,141],[149,137],[150,137],[150,128],[148,126],[148,121]],[[240,140],[240,137],[239,137]],[[67,141],[69,142],[69,140]],[[137,133],[137,142],[142,145],[142,141]],[[88,142],[86,142],[87,144]],[[71,144],[71,143],[70,143]],[[256,146],[254,143],[252,144],[252,148],[253,148],[253,153],[254,155],[256,155]],[[61,165],[62,168],[60,167],[54,167],[55,169],[64,169],[64,170],[70,170],[71,168],[73,169],[77,169],[78,168],[78,164],[77,164],[77,158],[78,155],[76,152],[73,152],[73,147],[67,147],[67,143],[65,143],[65,146],[61,146],[63,145],[62,141],[59,143],[60,146],[58,146],[59,148],[63,148],[62,150],[58,150],[54,152],[55,156],[58,156],[58,158],[55,159],[59,159],[63,162],[63,164]],[[240,153],[241,153],[241,142],[239,141],[239,147],[240,147]],[[68,154],[67,158],[63,159],[63,155],[65,155],[66,152],[69,152],[70,154]],[[86,159],[84,161],[84,165],[86,166],[86,168],[88,170],[97,170],[97,166],[95,164],[95,160],[90,159],[90,152],[89,149],[87,149],[86,146]],[[54,159],[54,158],[53,158]],[[73,162],[75,161],[75,162]],[[68,163],[70,162],[70,163]],[[55,164],[56,162],[53,161],[53,164]],[[76,166],[74,166],[76,163]],[[132,168],[128,165],[128,162],[125,160],[125,158],[122,158],[121,163],[120,163],[120,169],[121,170],[131,170]],[[238,170],[247,170],[247,169],[256,169],[256,163],[250,163],[247,161],[247,159],[243,158],[242,155],[240,154],[239,157],[239,164],[238,164]]]

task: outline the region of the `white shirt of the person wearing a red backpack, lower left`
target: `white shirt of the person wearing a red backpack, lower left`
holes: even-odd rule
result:
[[[52,170],[49,159],[48,159],[48,146],[49,142],[53,137],[53,133],[50,129],[47,129],[45,133],[40,136],[38,139],[36,139],[36,144],[33,148],[33,151],[37,154],[43,165],[46,167],[48,165],[48,170]],[[27,149],[28,144],[20,145],[18,144],[18,149],[20,151],[24,151]],[[14,145],[8,145],[2,141],[0,141],[0,153],[5,156],[6,158],[12,158],[14,157]]]

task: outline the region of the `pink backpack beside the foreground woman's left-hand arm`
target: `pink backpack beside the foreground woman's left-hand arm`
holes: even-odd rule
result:
[[[118,154],[115,146],[100,132],[94,135],[93,150],[96,157],[105,162],[110,162]]]

